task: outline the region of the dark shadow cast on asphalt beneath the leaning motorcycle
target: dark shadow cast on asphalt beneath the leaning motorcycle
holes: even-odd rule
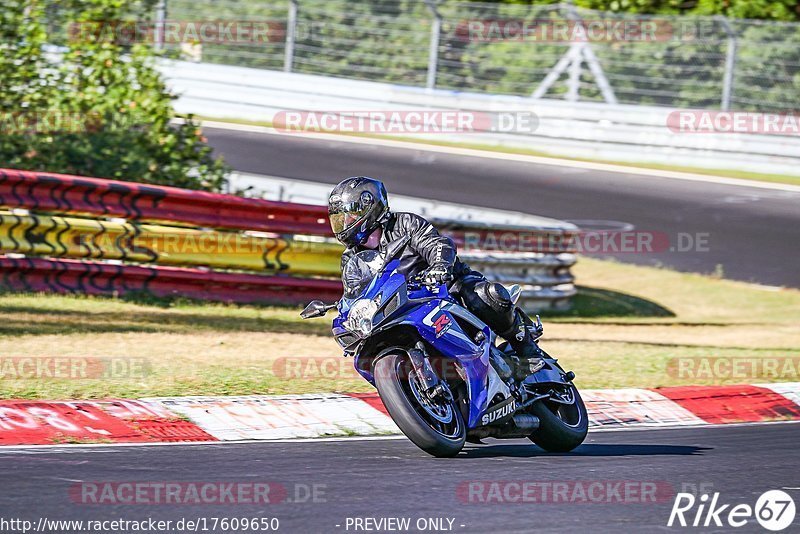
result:
[[[690,445],[640,445],[640,444],[592,444],[584,443],[568,453],[546,452],[536,445],[489,445],[464,449],[457,458],[536,458],[549,456],[693,456],[703,454],[711,447]]]

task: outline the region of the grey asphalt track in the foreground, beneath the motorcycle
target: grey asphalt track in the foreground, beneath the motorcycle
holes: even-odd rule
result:
[[[670,530],[674,494],[682,490],[719,492],[720,504],[752,506],[766,490],[793,488],[784,491],[800,503],[798,438],[794,423],[595,432],[569,454],[548,454],[527,440],[488,440],[452,459],[429,457],[405,439],[3,448],[0,517],[277,517],[280,532],[301,533],[356,532],[347,528],[348,517],[408,517],[410,532],[419,518],[454,519],[452,532],[658,532]],[[613,494],[611,503],[469,503],[457,493],[475,481],[621,480],[667,489],[659,489],[655,503],[621,503]],[[294,501],[316,484],[317,499],[258,506],[73,502],[70,487],[92,481],[266,481],[282,484]],[[795,521],[800,525],[800,515]],[[751,519],[736,531],[763,529]]]

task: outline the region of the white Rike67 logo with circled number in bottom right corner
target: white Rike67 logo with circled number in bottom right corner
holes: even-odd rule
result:
[[[699,498],[691,493],[678,493],[667,526],[739,528],[755,517],[763,528],[777,532],[792,524],[795,512],[794,500],[781,490],[764,492],[754,507],[749,504],[723,504],[719,493],[711,497],[704,493]]]

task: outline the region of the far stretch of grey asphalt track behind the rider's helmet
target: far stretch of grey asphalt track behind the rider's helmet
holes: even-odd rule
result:
[[[800,287],[800,193],[450,155],[408,148],[205,128],[236,170],[335,184],[365,174],[391,192],[508,209],[586,228],[616,221],[652,232],[654,246],[586,250],[624,262]],[[680,163],[676,161],[676,163]],[[612,225],[612,228],[624,226]],[[668,241],[668,242],[667,242]],[[663,243],[663,245],[661,245]],[[699,244],[699,245],[698,245]],[[595,253],[597,247],[601,250]],[[687,248],[687,251],[680,251]]]

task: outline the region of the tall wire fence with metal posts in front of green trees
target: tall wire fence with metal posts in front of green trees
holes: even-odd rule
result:
[[[161,0],[155,18],[169,53],[209,63],[572,101],[800,107],[800,24],[436,0]],[[208,21],[234,31],[187,31]],[[238,38],[253,22],[266,38]]]

